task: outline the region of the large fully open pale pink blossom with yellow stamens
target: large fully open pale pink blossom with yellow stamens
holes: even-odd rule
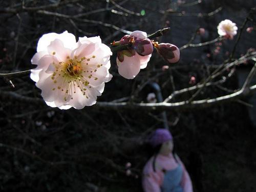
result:
[[[111,80],[110,48],[97,37],[79,37],[67,31],[43,35],[31,62],[30,78],[45,102],[59,109],[82,109],[96,103]]]

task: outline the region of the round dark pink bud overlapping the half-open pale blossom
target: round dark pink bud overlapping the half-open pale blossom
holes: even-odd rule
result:
[[[137,38],[133,48],[140,56],[150,55],[153,52],[152,42],[148,38]]]

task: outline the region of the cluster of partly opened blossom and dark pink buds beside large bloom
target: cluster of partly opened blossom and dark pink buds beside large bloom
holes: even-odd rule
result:
[[[112,46],[122,45],[127,45],[127,49],[118,51],[116,60],[119,74],[126,79],[133,79],[140,69],[146,68],[154,47],[169,63],[178,62],[180,58],[180,51],[175,45],[158,44],[147,38],[147,34],[142,31],[134,31],[112,43]]]

